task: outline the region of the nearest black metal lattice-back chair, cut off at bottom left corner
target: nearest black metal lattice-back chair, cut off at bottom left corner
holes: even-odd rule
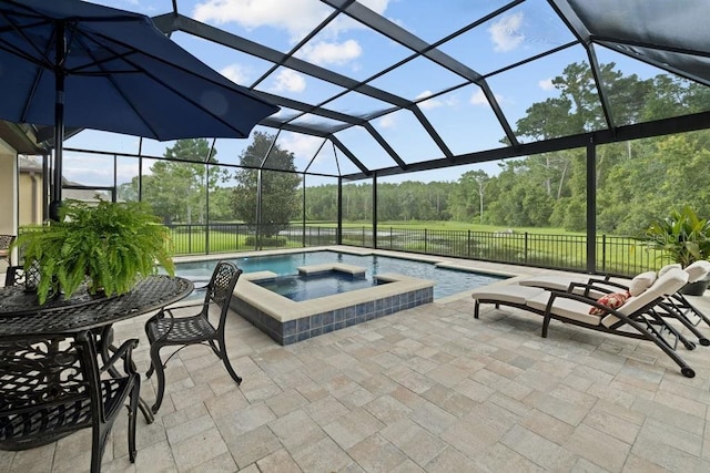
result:
[[[91,472],[99,472],[111,428],[128,401],[129,457],[134,462],[140,392],[140,374],[131,361],[135,346],[136,339],[126,340],[100,366],[89,330],[1,336],[0,449],[32,449],[91,428]]]

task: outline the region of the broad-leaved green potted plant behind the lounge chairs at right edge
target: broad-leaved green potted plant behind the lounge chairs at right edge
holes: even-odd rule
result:
[[[651,223],[646,237],[649,248],[661,251],[661,259],[678,263],[683,268],[710,257],[710,220],[699,217],[689,205]],[[709,282],[706,278],[689,284],[683,292],[702,295]]]

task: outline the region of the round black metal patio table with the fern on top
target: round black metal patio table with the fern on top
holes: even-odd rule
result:
[[[121,296],[92,296],[82,288],[70,299],[49,299],[40,306],[37,295],[28,292],[23,285],[1,287],[0,336],[49,336],[90,329],[97,337],[98,351],[106,360],[113,349],[113,323],[178,302],[193,289],[189,279],[154,275]],[[142,400],[140,408],[151,423],[153,414]]]

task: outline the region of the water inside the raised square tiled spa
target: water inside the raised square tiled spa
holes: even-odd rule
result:
[[[254,284],[295,301],[366,289],[377,285],[372,278],[353,277],[338,271],[310,276],[280,276],[274,279],[255,280]]]

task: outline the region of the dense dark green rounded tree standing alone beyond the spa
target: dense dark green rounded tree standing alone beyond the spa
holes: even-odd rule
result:
[[[240,156],[243,166],[234,175],[233,203],[236,215],[262,236],[271,237],[286,228],[301,208],[297,193],[301,177],[295,174],[294,154],[272,144],[274,136],[255,132],[254,141]],[[256,210],[261,184],[261,218]]]

